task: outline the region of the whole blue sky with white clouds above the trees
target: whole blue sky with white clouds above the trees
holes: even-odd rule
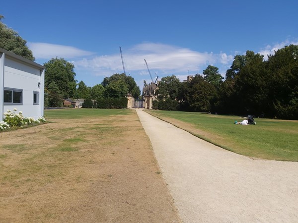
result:
[[[27,41],[36,62],[74,63],[87,86],[123,73],[143,86],[153,78],[202,73],[224,76],[235,55],[263,55],[298,45],[297,0],[5,0],[2,20]]]

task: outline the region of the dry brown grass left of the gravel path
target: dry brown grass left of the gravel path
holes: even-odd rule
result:
[[[135,111],[0,133],[1,222],[179,222]]]

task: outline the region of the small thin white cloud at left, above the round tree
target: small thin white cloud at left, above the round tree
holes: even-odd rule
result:
[[[27,45],[37,59],[51,59],[56,56],[59,58],[77,58],[94,55],[92,52],[57,44],[27,43]]]

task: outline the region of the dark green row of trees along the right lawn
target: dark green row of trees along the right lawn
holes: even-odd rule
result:
[[[224,81],[218,70],[209,65],[184,83],[174,75],[162,78],[154,109],[298,119],[297,45],[268,55],[268,60],[253,51],[237,55]]]

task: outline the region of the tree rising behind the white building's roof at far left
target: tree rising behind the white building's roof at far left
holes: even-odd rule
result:
[[[26,46],[27,41],[2,23],[3,18],[4,16],[0,15],[0,48],[34,61],[32,51]]]

